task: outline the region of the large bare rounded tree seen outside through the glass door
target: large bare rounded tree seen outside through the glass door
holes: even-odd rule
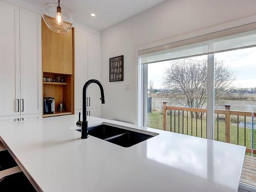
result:
[[[215,96],[232,88],[236,74],[223,61],[215,60]],[[174,60],[165,71],[163,84],[172,90],[179,104],[202,108],[207,101],[207,60]]]

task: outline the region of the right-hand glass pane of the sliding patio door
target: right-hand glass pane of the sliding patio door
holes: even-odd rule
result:
[[[246,146],[240,182],[254,188],[256,48],[216,53],[215,68],[215,140]]]

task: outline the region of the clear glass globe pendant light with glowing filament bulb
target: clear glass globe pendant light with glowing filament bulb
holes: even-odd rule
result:
[[[61,5],[50,3],[42,7],[42,18],[50,30],[56,33],[67,33],[73,25],[71,11]]]

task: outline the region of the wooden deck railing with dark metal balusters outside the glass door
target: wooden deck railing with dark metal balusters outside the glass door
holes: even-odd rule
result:
[[[203,137],[203,129],[205,129],[205,138],[207,135],[207,123],[205,122],[205,126],[203,127],[203,115],[207,114],[207,109],[199,109],[199,108],[183,108],[183,107],[178,107],[178,106],[167,106],[166,105],[167,102],[163,102],[163,130],[166,131],[166,112],[167,110],[169,110],[169,115],[170,115],[170,131],[174,131],[176,133],[181,133],[181,134],[188,134],[188,112],[190,112],[190,116],[191,114],[194,114],[195,117],[194,119],[196,119],[196,122],[194,123],[195,126],[193,126],[193,116],[191,116],[191,135],[193,135],[193,129],[196,129],[196,133],[194,136],[198,137],[198,120],[201,121],[201,134],[200,136]],[[174,115],[173,115],[173,111],[174,111]],[[178,112],[178,123],[176,122],[176,116],[177,116],[177,112]],[[180,112],[182,112],[182,114],[180,114]],[[186,113],[186,123],[184,124],[184,112]],[[225,105],[225,110],[215,110],[215,114],[217,114],[217,138],[216,140],[219,141],[219,114],[222,114],[223,116],[225,116],[225,142],[230,143],[230,116],[236,116],[237,117],[237,143],[236,144],[240,144],[243,146],[246,146],[246,117],[251,117],[251,148],[246,146],[246,152],[248,153],[253,153],[256,154],[256,150],[254,150],[254,117],[256,117],[256,113],[254,112],[242,112],[242,111],[230,111],[230,105]],[[181,117],[180,117],[181,116]],[[244,142],[243,143],[239,143],[239,117],[243,117],[243,121],[244,121]],[[174,118],[174,129],[172,127],[172,118]],[[180,121],[181,118],[181,121]],[[205,118],[207,121],[207,116]],[[177,127],[178,124],[178,127]],[[184,131],[185,128],[185,131]]]

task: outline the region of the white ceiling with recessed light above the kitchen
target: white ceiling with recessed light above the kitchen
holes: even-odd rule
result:
[[[57,0],[25,0],[36,6]],[[103,30],[165,0],[60,0],[71,9],[74,19],[84,25]],[[95,13],[92,17],[90,14]]]

